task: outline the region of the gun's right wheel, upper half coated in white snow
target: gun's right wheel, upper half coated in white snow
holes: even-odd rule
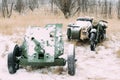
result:
[[[73,76],[75,75],[75,47],[73,44],[69,46],[69,55],[68,55],[68,74]]]

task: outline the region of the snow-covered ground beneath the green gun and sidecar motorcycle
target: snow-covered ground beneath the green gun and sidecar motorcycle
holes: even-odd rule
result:
[[[16,43],[20,43],[23,35],[0,35],[0,80],[120,80],[120,32],[111,33],[103,43],[98,44],[92,52],[89,43],[76,44],[76,74],[69,76],[67,67],[45,67],[26,70],[19,69],[16,74],[9,74],[7,54]],[[65,54],[70,42],[64,36]]]

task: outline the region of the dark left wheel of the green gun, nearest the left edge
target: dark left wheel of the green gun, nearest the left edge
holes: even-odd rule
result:
[[[16,63],[15,63],[15,56],[13,53],[8,54],[8,70],[10,74],[16,73]]]

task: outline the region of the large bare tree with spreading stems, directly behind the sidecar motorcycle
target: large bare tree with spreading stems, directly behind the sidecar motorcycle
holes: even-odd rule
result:
[[[78,0],[54,0],[54,4],[62,11],[65,18],[75,15],[79,10]]]

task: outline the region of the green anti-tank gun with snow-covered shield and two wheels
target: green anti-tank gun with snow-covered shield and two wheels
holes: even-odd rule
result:
[[[64,66],[68,63],[68,73],[75,74],[75,48],[69,47],[67,60],[60,58],[64,53],[62,24],[49,24],[44,28],[30,27],[22,45],[16,45],[8,54],[8,70],[14,74],[19,66]]]

